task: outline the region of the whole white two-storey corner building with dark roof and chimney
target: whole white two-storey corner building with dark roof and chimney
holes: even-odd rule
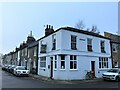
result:
[[[85,79],[87,71],[99,78],[112,68],[110,39],[72,27],[54,31],[47,25],[38,40],[38,75],[60,80]]]

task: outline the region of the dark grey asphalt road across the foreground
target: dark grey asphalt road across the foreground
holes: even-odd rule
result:
[[[120,82],[119,82],[120,83]],[[115,81],[77,82],[74,84],[55,81],[41,81],[32,77],[16,77],[2,71],[2,88],[119,88]]]

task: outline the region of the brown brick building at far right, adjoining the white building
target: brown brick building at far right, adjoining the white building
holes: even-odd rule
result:
[[[113,67],[118,67],[120,61],[120,36],[104,32],[104,36],[111,39]]]

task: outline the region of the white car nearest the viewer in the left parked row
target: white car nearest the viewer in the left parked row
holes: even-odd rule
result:
[[[25,66],[16,66],[15,68],[14,68],[14,72],[13,72],[13,74],[14,75],[16,75],[16,76],[23,76],[23,75],[25,75],[25,76],[28,76],[29,75],[29,70],[28,69],[26,69],[26,67]]]

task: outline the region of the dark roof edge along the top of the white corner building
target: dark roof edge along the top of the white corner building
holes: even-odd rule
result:
[[[110,40],[110,38],[102,36],[102,35],[100,35],[98,33],[93,33],[93,32],[90,32],[90,31],[80,30],[80,29],[76,29],[76,28],[73,28],[73,27],[61,27],[61,28],[57,29],[56,31],[54,31],[53,33],[57,32],[57,31],[60,31],[62,29],[63,30],[67,30],[67,31],[71,31],[71,32],[82,33],[82,34],[86,34],[86,35],[95,36],[95,37],[99,37],[99,38],[104,38],[104,39],[109,39]],[[53,33],[51,33],[51,34],[53,34]],[[37,41],[39,41],[39,40],[41,40],[41,39],[43,39],[45,37],[48,37],[48,36],[44,36],[44,37],[38,39]]]

